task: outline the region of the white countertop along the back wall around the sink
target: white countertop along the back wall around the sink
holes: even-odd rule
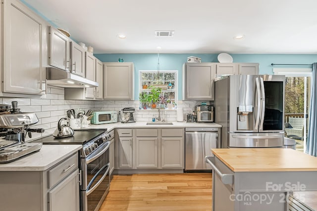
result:
[[[147,122],[135,122],[135,123],[109,123],[100,125],[91,125],[87,128],[81,129],[107,129],[112,130],[115,128],[177,128],[177,127],[221,127],[221,125],[215,123],[186,123],[186,122],[172,122],[173,125],[147,125]]]

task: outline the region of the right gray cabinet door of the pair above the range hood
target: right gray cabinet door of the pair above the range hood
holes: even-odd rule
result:
[[[70,42],[71,72],[85,77],[85,49],[76,42]]]

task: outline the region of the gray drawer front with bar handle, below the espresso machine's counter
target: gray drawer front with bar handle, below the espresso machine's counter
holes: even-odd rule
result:
[[[75,169],[78,169],[77,153],[62,161],[53,169],[48,170],[48,187],[53,187],[57,182],[69,175]]]

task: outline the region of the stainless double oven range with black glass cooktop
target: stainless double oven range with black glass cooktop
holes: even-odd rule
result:
[[[109,144],[111,135],[105,129],[75,130],[73,136],[54,138],[53,135],[37,139],[43,144],[81,144],[80,202],[81,211],[97,211],[109,191]]]

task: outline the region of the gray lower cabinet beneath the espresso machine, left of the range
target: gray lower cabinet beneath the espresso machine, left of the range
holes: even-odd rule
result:
[[[78,153],[44,171],[1,171],[0,177],[1,211],[80,210]]]

